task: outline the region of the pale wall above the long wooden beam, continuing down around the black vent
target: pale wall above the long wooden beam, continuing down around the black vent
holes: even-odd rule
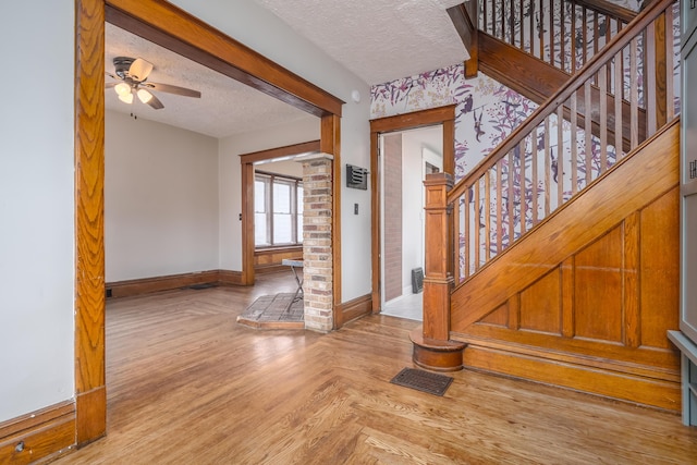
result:
[[[370,293],[370,191],[346,188],[343,176],[345,163],[370,166],[370,88],[367,83],[252,1],[173,0],[172,3],[346,101],[341,121],[342,301]],[[354,89],[362,95],[358,103],[351,100]],[[221,160],[222,163],[228,161]],[[221,166],[221,171],[223,168],[232,169]],[[353,213],[354,204],[359,204],[358,216]],[[221,228],[227,230],[230,238],[234,240],[232,235],[240,234],[240,225],[231,223],[230,219]],[[221,254],[225,269],[241,269],[241,259],[222,248]]]

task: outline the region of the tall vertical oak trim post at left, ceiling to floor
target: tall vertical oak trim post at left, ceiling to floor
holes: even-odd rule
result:
[[[75,2],[75,397],[106,387],[105,375],[105,3]],[[107,432],[106,397],[82,415],[74,440]],[[101,420],[96,425],[95,420]],[[89,431],[88,437],[82,436]],[[54,444],[56,451],[62,448]]]

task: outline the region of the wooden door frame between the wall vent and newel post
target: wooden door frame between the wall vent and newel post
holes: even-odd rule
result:
[[[380,220],[382,211],[380,209],[380,163],[379,144],[380,135],[398,131],[415,130],[418,127],[443,126],[443,172],[454,175],[455,172],[455,108],[456,105],[432,108],[429,110],[414,111],[412,113],[398,114],[395,117],[378,118],[370,120],[370,183],[374,186],[370,193],[370,205],[372,216],[370,224],[372,228],[372,311],[378,313],[381,308],[380,277],[382,268],[380,257],[382,247],[380,244]]]

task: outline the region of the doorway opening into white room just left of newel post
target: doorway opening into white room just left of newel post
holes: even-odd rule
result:
[[[442,124],[380,135],[381,309],[423,320],[424,180],[443,170]]]

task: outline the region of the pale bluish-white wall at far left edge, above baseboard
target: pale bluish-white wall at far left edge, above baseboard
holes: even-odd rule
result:
[[[0,2],[0,421],[75,391],[74,16]]]

